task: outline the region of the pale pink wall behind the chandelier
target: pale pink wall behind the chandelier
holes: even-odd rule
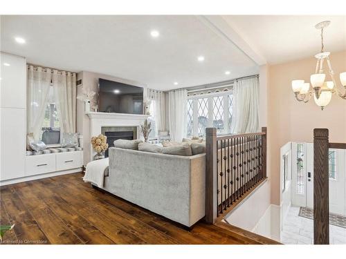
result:
[[[332,53],[331,66],[336,84],[346,71],[346,51]],[[346,100],[333,95],[321,111],[313,98],[307,103],[295,100],[291,80],[310,81],[314,57],[269,66],[267,85],[268,175],[271,175],[271,203],[280,205],[280,147],[290,141],[313,142],[313,128],[329,128],[330,142],[346,143]],[[327,76],[329,81],[329,76]]]

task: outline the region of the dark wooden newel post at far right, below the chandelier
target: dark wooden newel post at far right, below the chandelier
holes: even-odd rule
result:
[[[329,244],[328,129],[313,130],[313,243]]]

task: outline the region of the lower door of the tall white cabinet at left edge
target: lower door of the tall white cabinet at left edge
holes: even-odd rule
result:
[[[0,108],[0,180],[24,177],[26,110]]]

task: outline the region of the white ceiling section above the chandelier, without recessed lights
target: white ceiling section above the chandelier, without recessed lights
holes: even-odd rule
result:
[[[324,30],[325,51],[346,50],[346,16],[223,16],[228,25],[268,64],[277,64],[320,52],[315,25],[331,21]]]

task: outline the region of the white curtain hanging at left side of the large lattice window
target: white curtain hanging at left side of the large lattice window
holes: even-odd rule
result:
[[[173,141],[181,142],[186,135],[186,99],[188,90],[171,90],[169,97],[170,135]]]

